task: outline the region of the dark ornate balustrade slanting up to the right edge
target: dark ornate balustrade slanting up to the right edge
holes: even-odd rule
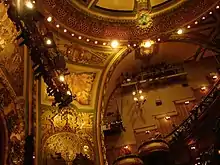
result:
[[[205,98],[201,100],[193,109],[191,115],[182,122],[174,131],[164,137],[168,142],[174,142],[181,138],[186,138],[192,132],[196,122],[209,110],[210,106],[219,98],[220,80],[218,80]]]

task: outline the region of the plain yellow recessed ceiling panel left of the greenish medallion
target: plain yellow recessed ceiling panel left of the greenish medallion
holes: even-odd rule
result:
[[[134,0],[99,0],[96,6],[118,11],[133,11]]]

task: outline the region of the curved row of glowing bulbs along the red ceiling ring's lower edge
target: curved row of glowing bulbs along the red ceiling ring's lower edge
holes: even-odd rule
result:
[[[216,9],[219,9],[220,6],[217,5],[215,8],[216,8]],[[210,11],[210,12],[209,12],[209,15],[212,15],[212,14],[213,14],[213,12]],[[202,20],[205,20],[206,17],[205,17],[205,16],[202,16],[201,19],[202,19]],[[53,21],[52,16],[49,16],[49,17],[47,18],[47,22],[52,22],[52,21]],[[195,21],[194,24],[195,24],[195,25],[199,24],[199,21]],[[60,25],[59,25],[59,24],[56,24],[56,27],[57,27],[57,28],[60,28]],[[191,26],[190,26],[190,25],[187,25],[187,29],[190,29],[190,28],[191,28]],[[184,30],[183,28],[181,28],[181,29],[178,29],[176,33],[177,33],[178,35],[181,35],[181,34],[184,33],[184,31],[185,31],[185,30]],[[66,33],[66,32],[67,32],[67,29],[63,29],[63,32]],[[72,33],[71,36],[74,37],[75,34]],[[79,40],[82,40],[83,37],[82,37],[82,36],[78,36],[78,39],[79,39]],[[91,41],[92,41],[91,39],[86,38],[86,42],[91,42]],[[160,42],[161,39],[160,39],[160,38],[157,38],[156,41],[157,41],[157,42]],[[97,40],[96,40],[96,41],[93,41],[93,42],[94,42],[94,44],[96,44],[96,45],[99,43]],[[155,43],[155,41],[147,40],[147,41],[144,41],[144,42],[142,43],[142,46],[144,46],[145,48],[150,48],[154,43]],[[113,41],[110,42],[110,44],[108,44],[108,43],[106,43],[106,42],[103,42],[102,45],[103,45],[103,46],[110,45],[112,48],[117,48],[117,47],[120,45],[120,43],[119,43],[117,40],[113,40]],[[136,43],[134,43],[133,45],[128,44],[127,46],[128,46],[128,47],[130,47],[130,46],[136,47],[137,44],[136,44]]]

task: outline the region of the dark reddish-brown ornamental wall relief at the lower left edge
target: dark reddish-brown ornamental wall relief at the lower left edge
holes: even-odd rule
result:
[[[15,98],[7,89],[5,84],[0,87],[0,115],[6,129],[5,164],[22,164],[25,139],[24,100]]]

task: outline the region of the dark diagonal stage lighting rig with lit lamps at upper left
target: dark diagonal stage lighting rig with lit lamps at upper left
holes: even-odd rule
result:
[[[65,81],[60,76],[69,74],[64,56],[58,51],[53,34],[46,28],[43,15],[35,11],[34,4],[27,1],[23,11],[19,12],[13,0],[5,1],[8,6],[8,17],[15,24],[20,34],[19,46],[26,45],[33,62],[33,71],[36,79],[42,77],[47,84],[47,93],[54,97],[53,106],[59,108],[68,106],[76,95],[72,94]],[[41,26],[39,26],[39,24]],[[44,29],[40,29],[44,27]]]

